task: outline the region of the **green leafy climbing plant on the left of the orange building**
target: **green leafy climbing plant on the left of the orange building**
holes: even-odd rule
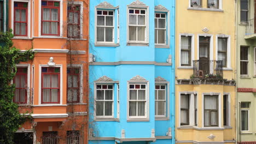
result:
[[[25,123],[29,115],[20,114],[13,103],[15,85],[11,83],[16,74],[16,64],[30,61],[34,52],[21,52],[13,46],[11,30],[0,32],[0,143],[12,143],[14,132]]]

